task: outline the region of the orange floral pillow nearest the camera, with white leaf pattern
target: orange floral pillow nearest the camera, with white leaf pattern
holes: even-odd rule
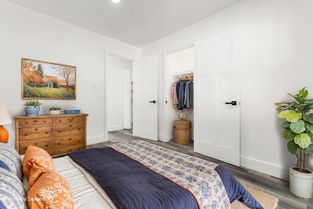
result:
[[[67,181],[58,173],[45,170],[28,191],[31,209],[74,209],[72,191]]]

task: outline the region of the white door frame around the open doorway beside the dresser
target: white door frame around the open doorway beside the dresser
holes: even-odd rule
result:
[[[134,59],[116,55],[104,50],[104,141],[108,141],[108,59],[110,56],[118,57],[133,62]]]

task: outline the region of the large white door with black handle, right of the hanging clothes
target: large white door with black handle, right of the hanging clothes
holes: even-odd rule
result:
[[[239,36],[227,32],[196,43],[195,152],[240,166],[239,99]]]

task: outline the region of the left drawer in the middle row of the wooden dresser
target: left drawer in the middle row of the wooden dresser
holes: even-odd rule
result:
[[[20,141],[53,138],[53,126],[19,128]]]

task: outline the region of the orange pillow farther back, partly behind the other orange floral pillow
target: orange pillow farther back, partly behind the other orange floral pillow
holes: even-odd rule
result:
[[[23,159],[23,173],[29,180],[30,169],[33,165],[54,171],[54,162],[51,156],[42,148],[28,145]]]

